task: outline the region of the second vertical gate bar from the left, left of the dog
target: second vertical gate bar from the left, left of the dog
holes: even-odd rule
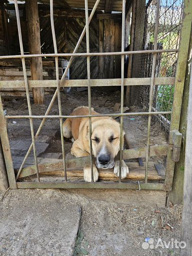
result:
[[[56,37],[55,37],[55,27],[54,27],[54,15],[53,15],[53,0],[50,0],[50,19],[51,19],[51,31],[54,43],[54,51],[57,54],[57,45],[56,45]],[[59,64],[58,57],[55,57],[55,68],[56,68],[56,82],[57,82],[57,98],[58,98],[58,107],[59,107],[59,115],[62,116],[62,107],[61,107],[61,95],[60,95],[60,83],[59,83]],[[61,131],[61,146],[62,146],[62,156],[63,156],[63,165],[64,165],[64,178],[67,182],[67,172],[66,172],[66,164],[65,164],[65,153],[64,153],[64,134],[63,134],[63,119],[60,118],[60,131]]]

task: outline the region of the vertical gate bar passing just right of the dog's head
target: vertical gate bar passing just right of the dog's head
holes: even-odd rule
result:
[[[125,4],[122,2],[121,52],[125,49]],[[123,149],[123,100],[124,100],[124,55],[121,55],[121,116],[120,116],[120,151],[119,151],[119,182],[121,182],[121,161]]]

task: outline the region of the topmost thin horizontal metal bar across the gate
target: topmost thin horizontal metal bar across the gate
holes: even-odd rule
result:
[[[167,53],[167,52],[178,52],[178,51],[179,51],[178,49],[159,49],[159,50],[140,50],[140,51],[130,51],[130,52],[107,52],[107,53],[65,53],[65,54],[58,53],[58,54],[25,54],[25,55],[21,54],[21,55],[4,55],[4,56],[0,56],[0,59],[21,59],[21,58],[33,58],[33,57],[87,57],[87,56],[105,56],[105,55]]]

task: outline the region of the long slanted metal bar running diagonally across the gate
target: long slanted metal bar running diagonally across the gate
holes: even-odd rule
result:
[[[100,2],[100,0],[96,0],[96,2],[95,2],[95,5],[94,5],[94,7],[93,7],[93,9],[92,9],[92,11],[91,11],[90,17],[89,17],[89,23],[91,22],[91,19],[92,19],[94,13],[95,13],[95,10],[97,9],[97,6],[98,6],[99,2]],[[85,31],[86,31],[86,26],[84,27],[84,29],[83,29],[83,31],[82,31],[82,34],[81,34],[81,36],[80,36],[80,38],[79,38],[79,40],[78,40],[78,42],[77,42],[77,45],[75,46],[75,49],[74,49],[73,53],[75,53],[75,52],[77,51],[77,49],[79,48],[80,43],[81,43],[81,41],[82,41],[82,38],[83,38],[83,36],[84,36],[84,34],[85,34]],[[62,83],[64,82],[65,75],[66,75],[66,73],[68,72],[68,69],[69,69],[69,67],[70,67],[70,65],[71,65],[71,63],[72,63],[72,61],[73,61],[73,58],[74,58],[74,57],[71,56],[71,58],[70,58],[70,60],[69,60],[69,63],[68,63],[68,65],[67,65],[67,67],[66,67],[66,69],[65,69],[65,71],[64,71],[63,76],[62,76],[62,79],[61,79],[62,81],[60,82],[60,86],[61,86]],[[51,102],[50,102],[50,104],[49,104],[49,106],[48,106],[48,108],[47,108],[47,110],[46,110],[45,116],[47,116],[47,115],[49,114],[49,112],[50,112],[50,110],[51,110],[51,108],[52,108],[52,106],[53,106],[53,104],[54,104],[54,101],[55,101],[55,99],[56,99],[56,96],[57,96],[57,89],[55,90],[54,96],[53,96],[53,98],[52,98],[52,100],[51,100]],[[39,135],[39,133],[40,133],[40,131],[41,131],[41,129],[42,129],[42,127],[43,127],[45,121],[46,121],[46,119],[43,118],[43,120],[41,121],[41,124],[40,124],[40,126],[39,126],[39,128],[38,128],[38,130],[37,130],[37,133],[36,133],[35,137],[38,137],[38,135]],[[30,147],[29,147],[29,149],[28,149],[28,151],[27,151],[27,154],[26,154],[26,156],[25,156],[25,158],[24,158],[24,160],[23,160],[23,163],[21,164],[21,166],[20,166],[20,168],[19,168],[19,170],[18,170],[18,174],[17,174],[17,176],[16,176],[16,180],[18,179],[18,176],[19,176],[19,174],[20,174],[20,172],[21,172],[23,166],[25,165],[25,162],[26,162],[26,160],[27,160],[27,157],[28,157],[28,155],[29,155],[30,152],[31,152],[32,146],[33,146],[33,144],[30,145]]]

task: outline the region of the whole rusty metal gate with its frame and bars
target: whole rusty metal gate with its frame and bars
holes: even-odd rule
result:
[[[98,116],[120,116],[120,151],[119,151],[119,168],[121,168],[121,160],[122,159],[131,159],[135,157],[146,157],[146,173],[145,173],[145,182],[140,183],[141,190],[165,190],[169,191],[172,189],[173,183],[173,176],[174,176],[174,165],[175,161],[178,160],[178,152],[179,147],[182,139],[182,135],[179,133],[179,122],[180,122],[180,115],[181,115],[181,106],[182,106],[182,97],[183,97],[183,86],[184,86],[184,78],[185,78],[185,71],[186,71],[186,64],[187,64],[187,54],[188,54],[188,46],[190,40],[190,32],[192,26],[192,1],[191,0],[184,0],[184,7],[183,7],[183,18],[182,18],[182,28],[181,28],[181,36],[180,36],[180,46],[179,49],[157,49],[157,34],[158,34],[158,21],[159,21],[159,6],[160,0],[157,0],[157,9],[156,9],[156,18],[155,18],[155,39],[154,39],[154,50],[142,50],[142,51],[129,51],[124,52],[124,37],[125,37],[125,4],[126,0],[122,0],[122,43],[121,43],[121,52],[111,52],[111,53],[90,53],[89,49],[89,23],[93,14],[99,4],[100,0],[96,0],[95,5],[91,11],[90,17],[88,17],[88,0],[85,0],[85,19],[86,25],[82,31],[81,37],[78,40],[78,43],[73,51],[72,54],[58,54],[57,53],[57,46],[56,46],[56,39],[55,39],[55,27],[54,27],[54,16],[53,16],[53,0],[50,0],[50,18],[51,18],[51,28],[52,28],[52,36],[54,42],[54,54],[35,54],[35,55],[24,55],[23,51],[23,43],[22,43],[22,36],[21,36],[21,27],[20,27],[20,19],[19,19],[19,12],[18,12],[18,3],[15,0],[15,10],[16,10],[16,17],[17,17],[17,24],[18,24],[18,36],[19,36],[19,45],[20,45],[20,52],[21,55],[8,55],[8,56],[0,56],[0,59],[8,59],[8,58],[20,58],[22,60],[22,67],[24,73],[24,81],[0,81],[0,87],[3,88],[24,88],[26,89],[27,95],[27,105],[29,114],[27,116],[16,115],[16,116],[4,116],[3,113],[3,106],[0,97],[0,138],[8,173],[9,179],[9,186],[12,189],[17,188],[101,188],[101,189],[138,189],[138,184],[133,182],[123,182],[121,181],[121,172],[119,172],[119,182],[116,183],[103,183],[97,182],[93,183],[93,158],[92,155],[90,157],[84,157],[81,159],[83,163],[87,161],[91,161],[91,183],[79,183],[79,182],[68,182],[67,181],[67,173],[66,173],[66,166],[70,165],[70,163],[65,160],[65,153],[64,153],[64,137],[63,137],[63,129],[62,129],[62,119],[63,118],[77,118],[77,117],[89,117],[89,130],[91,131],[91,117],[98,117]],[[86,53],[76,53],[77,49],[82,41],[82,38],[86,32],[86,45],[87,45],[87,52]],[[177,70],[176,75],[174,77],[164,77],[164,78],[157,78],[155,77],[155,63],[156,63],[156,56],[158,53],[161,52],[178,52],[178,62],[177,62]],[[124,78],[124,55],[132,55],[132,54],[143,54],[143,53],[152,53],[153,54],[153,61],[152,61],[152,75],[151,78]],[[121,79],[97,79],[91,80],[90,78],[90,56],[104,56],[104,55],[121,55]],[[27,81],[27,74],[26,74],[26,65],[25,65],[25,58],[32,58],[32,57],[43,57],[43,56],[51,56],[55,57],[55,68],[56,68],[56,81]],[[59,81],[59,70],[58,70],[58,57],[59,56],[70,56],[70,61],[64,71],[61,81]],[[65,74],[67,73],[74,56],[84,56],[87,57],[87,80],[64,80]],[[147,112],[132,112],[132,113],[123,113],[123,100],[124,100],[124,86],[128,85],[150,85],[150,96],[149,96],[149,109]],[[172,111],[152,111],[152,100],[153,100],[153,89],[155,84],[175,84],[174,90],[174,103],[173,103],[173,110]],[[99,115],[91,115],[91,86],[121,86],[121,108],[120,113],[117,114],[99,114]],[[89,102],[89,115],[86,116],[64,116],[62,115],[62,108],[61,108],[61,97],[60,97],[60,87],[66,86],[87,86],[88,87],[88,102]],[[48,106],[46,113],[44,116],[36,116],[32,115],[31,112],[31,105],[30,105],[30,98],[29,98],[29,87],[56,87],[55,94]],[[48,115],[53,103],[58,97],[58,108],[59,108],[59,115],[51,116]],[[160,145],[160,146],[150,146],[150,126],[151,126],[151,116],[157,114],[172,114],[171,118],[171,127],[170,127],[170,135],[169,135],[169,144],[167,145]],[[131,116],[131,115],[147,115],[148,116],[148,128],[147,128],[147,145],[145,148],[139,149],[128,149],[122,150],[122,130],[123,130],[123,116]],[[17,177],[14,174],[13,162],[11,158],[10,146],[9,146],[9,138],[6,128],[6,119],[16,119],[16,118],[25,118],[30,120],[30,128],[31,128],[31,137],[32,143],[28,149],[27,155],[25,156],[22,165],[19,168]],[[60,119],[60,129],[61,129],[61,141],[62,141],[62,153],[63,153],[63,160],[60,164],[63,166],[64,170],[64,182],[40,182],[39,178],[39,170],[43,167],[52,167],[50,165],[38,165],[37,162],[37,155],[36,155],[36,145],[35,140],[38,137],[43,124],[45,123],[47,118],[56,118]],[[42,122],[37,130],[36,135],[34,134],[33,129],[33,119],[42,119]],[[90,145],[91,144],[91,132],[89,136]],[[28,155],[31,152],[31,149],[34,150],[34,157],[35,157],[35,166],[32,168],[35,170],[37,174],[37,182],[17,182],[19,174],[21,174],[23,166],[27,160]],[[92,151],[92,149],[91,149]],[[133,157],[133,154],[134,157]],[[153,155],[167,155],[167,165],[166,165],[166,175],[165,175],[165,183],[149,183],[147,179],[148,174],[148,158],[149,156]],[[176,157],[176,156],[177,157]],[[75,159],[76,162],[79,159]]]

